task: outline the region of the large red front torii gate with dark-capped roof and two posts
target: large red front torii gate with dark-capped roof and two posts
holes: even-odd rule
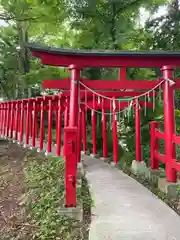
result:
[[[160,67],[163,72],[164,82],[164,115],[165,115],[165,138],[166,154],[168,158],[174,157],[174,147],[172,136],[174,135],[174,100],[173,89],[179,88],[179,82],[170,87],[168,79],[173,78],[173,66],[180,66],[180,52],[97,52],[66,50],[56,48],[43,48],[35,45],[28,45],[33,55],[41,59],[41,63],[52,66],[68,67],[71,72],[70,81],[47,81],[44,87],[70,89],[69,123],[65,128],[66,134],[66,206],[76,206],[76,171],[77,171],[77,128],[78,128],[78,94],[80,72],[86,67]],[[151,89],[158,83],[152,81],[89,81],[81,80],[91,89]],[[168,181],[176,181],[177,171],[171,163],[166,164],[166,174]]]

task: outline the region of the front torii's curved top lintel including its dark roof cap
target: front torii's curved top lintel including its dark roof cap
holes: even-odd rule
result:
[[[180,52],[167,51],[110,51],[63,49],[26,44],[42,64],[68,67],[162,67],[180,66]]]

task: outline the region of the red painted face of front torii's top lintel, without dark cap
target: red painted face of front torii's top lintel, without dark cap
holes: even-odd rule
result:
[[[96,56],[87,54],[84,55],[70,55],[70,54],[57,54],[50,52],[43,52],[41,50],[32,50],[34,56],[41,59],[41,63],[51,66],[64,66],[68,67],[72,63],[79,68],[87,67],[162,67],[163,65],[180,66],[180,56],[172,55],[129,55],[123,56],[117,54],[116,56],[104,55]]]

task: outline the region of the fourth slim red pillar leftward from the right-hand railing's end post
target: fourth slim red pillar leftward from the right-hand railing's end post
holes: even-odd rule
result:
[[[93,94],[93,110],[91,111],[91,121],[92,121],[92,157],[95,157],[97,155],[97,146],[96,146],[96,112],[95,112],[95,95]]]

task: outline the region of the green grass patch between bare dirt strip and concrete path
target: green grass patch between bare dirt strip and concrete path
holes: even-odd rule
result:
[[[36,240],[81,240],[87,237],[88,221],[80,223],[62,217],[58,210],[64,204],[64,160],[62,158],[29,157],[25,169],[28,188],[27,206],[33,224],[37,226]],[[77,202],[83,201],[86,215],[91,208],[88,186],[83,181],[77,189]]]

